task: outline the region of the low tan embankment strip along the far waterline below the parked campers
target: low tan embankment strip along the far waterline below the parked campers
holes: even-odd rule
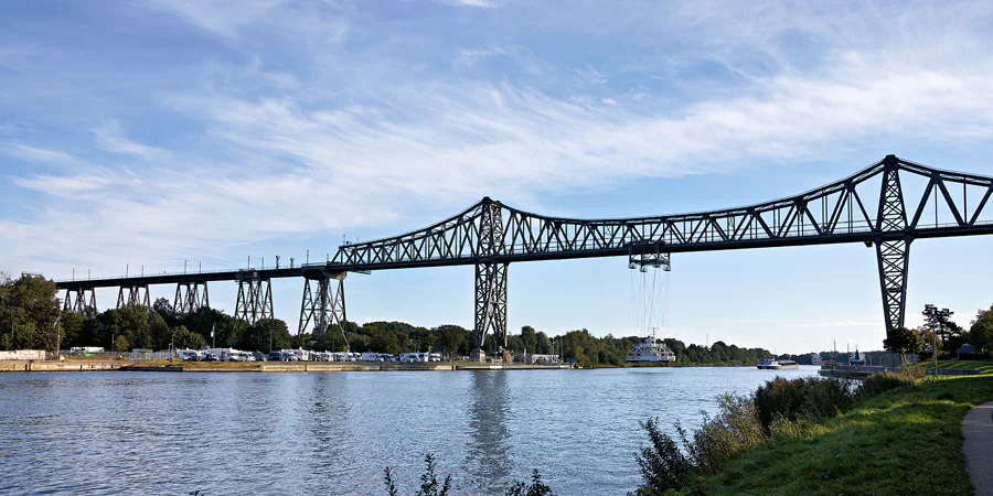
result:
[[[163,373],[301,373],[380,370],[562,370],[568,365],[490,365],[474,363],[375,363],[375,362],[125,362],[125,360],[9,360],[0,373],[43,371],[163,371]]]

